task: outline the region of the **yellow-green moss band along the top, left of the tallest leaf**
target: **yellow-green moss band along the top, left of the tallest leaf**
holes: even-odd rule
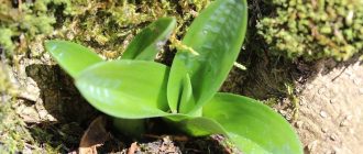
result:
[[[210,0],[36,0],[0,2],[0,46],[24,53],[38,35],[81,42],[106,57],[118,57],[141,28],[161,16],[176,16],[180,33]],[[58,29],[61,28],[61,29]],[[24,47],[25,46],[25,47]],[[31,46],[31,45],[30,45]]]

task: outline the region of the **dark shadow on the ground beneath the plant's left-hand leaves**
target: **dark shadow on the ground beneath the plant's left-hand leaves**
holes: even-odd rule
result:
[[[26,74],[37,85],[40,101],[56,121],[31,124],[31,134],[37,143],[72,151],[78,147],[84,131],[99,112],[77,91],[73,79],[58,66],[30,65]]]

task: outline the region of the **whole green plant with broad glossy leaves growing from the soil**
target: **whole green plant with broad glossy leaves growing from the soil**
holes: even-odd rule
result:
[[[119,61],[65,41],[47,51],[75,79],[81,95],[114,118],[121,131],[138,135],[147,118],[194,135],[224,134],[245,153],[302,153],[284,118],[251,98],[218,90],[242,46],[248,20],[245,0],[217,0],[193,22],[172,67],[153,62],[175,28],[164,18],[144,29]],[[198,54],[190,52],[193,48]]]

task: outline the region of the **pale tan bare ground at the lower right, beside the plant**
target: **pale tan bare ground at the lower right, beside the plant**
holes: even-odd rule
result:
[[[334,64],[332,64],[334,65]],[[307,154],[363,151],[363,66],[340,64],[304,85],[295,125]]]

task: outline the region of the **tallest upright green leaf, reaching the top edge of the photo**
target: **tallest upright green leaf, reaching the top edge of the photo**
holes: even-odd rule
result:
[[[245,0],[217,0],[200,13],[188,29],[183,43],[199,55],[188,51],[179,51],[176,54],[168,88],[180,87],[182,84],[175,80],[184,78],[185,74],[180,70],[186,69],[190,75],[197,103],[194,110],[210,100],[227,78],[241,50],[246,23]],[[182,92],[168,89],[167,95],[170,98],[169,96],[178,94]]]

